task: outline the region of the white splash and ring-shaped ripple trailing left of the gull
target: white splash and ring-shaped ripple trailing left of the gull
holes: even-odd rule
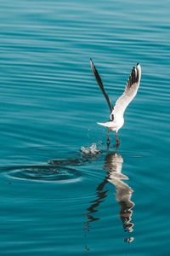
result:
[[[101,151],[96,144],[89,148],[81,148],[81,154],[76,158],[66,160],[48,160],[48,165],[44,166],[9,166],[1,167],[3,176],[13,179],[20,179],[33,182],[50,183],[72,183],[81,181],[82,174],[76,166],[82,166],[95,160]],[[74,167],[73,167],[74,166]]]

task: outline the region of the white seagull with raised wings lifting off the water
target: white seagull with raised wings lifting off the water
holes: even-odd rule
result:
[[[117,100],[116,104],[113,107],[111,103],[110,97],[107,95],[104,84],[102,82],[102,79],[99,76],[99,73],[94,66],[94,62],[92,59],[90,59],[90,66],[92,69],[92,72],[94,73],[95,79],[97,80],[97,83],[99,84],[100,90],[103,92],[105,96],[105,100],[108,103],[108,106],[110,108],[110,120],[105,123],[97,123],[98,125],[105,126],[108,128],[107,132],[107,148],[109,149],[111,140],[109,137],[109,131],[116,131],[116,149],[120,145],[120,140],[118,138],[118,131],[122,128],[122,125],[124,124],[124,112],[130,102],[132,102],[133,97],[136,96],[137,91],[139,90],[139,84],[141,79],[141,66],[139,63],[136,64],[136,67],[133,67],[132,72],[129,76],[129,79],[127,80],[127,84],[125,87],[125,90]]]

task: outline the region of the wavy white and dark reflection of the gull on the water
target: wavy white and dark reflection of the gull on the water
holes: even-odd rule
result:
[[[98,212],[97,207],[105,201],[105,198],[109,192],[109,189],[105,189],[107,183],[112,183],[116,188],[116,201],[120,205],[119,216],[122,219],[122,226],[125,232],[133,232],[133,207],[134,203],[131,201],[133,195],[133,189],[131,189],[127,183],[123,180],[128,180],[128,177],[122,173],[123,158],[121,154],[109,153],[105,157],[104,169],[107,172],[105,179],[102,183],[99,183],[97,187],[97,198],[93,201],[92,205],[88,207],[88,213],[86,214],[88,220],[85,223],[86,230],[89,230],[89,223],[99,220],[94,218],[94,212]],[[132,242],[133,237],[125,238],[125,241]]]

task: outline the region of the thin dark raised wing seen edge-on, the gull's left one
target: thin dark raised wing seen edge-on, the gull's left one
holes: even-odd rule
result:
[[[92,71],[94,73],[94,76],[95,76],[95,79],[97,80],[98,84],[99,84],[99,88],[101,89],[101,91],[103,92],[104,96],[105,96],[105,99],[109,105],[109,108],[112,112],[113,110],[113,107],[112,107],[112,104],[111,104],[111,100],[110,100],[110,97],[107,95],[107,93],[105,92],[105,88],[104,88],[104,84],[102,83],[102,80],[99,76],[99,73],[96,69],[96,67],[94,66],[94,62],[92,61],[92,59],[90,59],[90,66],[92,68]]]

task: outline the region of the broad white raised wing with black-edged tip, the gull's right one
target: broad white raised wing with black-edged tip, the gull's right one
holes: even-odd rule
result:
[[[111,113],[114,115],[114,118],[122,116],[128,104],[133,100],[133,97],[136,96],[137,91],[139,90],[140,79],[141,67],[138,63],[136,67],[133,67],[131,75],[127,80],[127,86],[122,96],[120,96],[116,101],[116,105]]]

